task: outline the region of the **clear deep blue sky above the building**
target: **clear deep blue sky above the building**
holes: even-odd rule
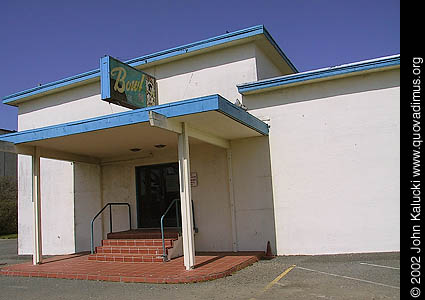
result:
[[[0,97],[259,24],[299,71],[400,53],[394,0],[3,0]],[[0,128],[16,120],[0,104]]]

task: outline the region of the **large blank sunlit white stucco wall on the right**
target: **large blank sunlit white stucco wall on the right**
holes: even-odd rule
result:
[[[398,251],[399,70],[246,96],[270,119],[277,253]]]

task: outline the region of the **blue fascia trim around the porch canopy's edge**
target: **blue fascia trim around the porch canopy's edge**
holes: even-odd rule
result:
[[[5,134],[0,136],[0,140],[20,144],[143,123],[149,121],[149,111],[151,110],[154,110],[155,112],[160,113],[168,118],[208,111],[218,111],[229,116],[235,121],[259,132],[260,134],[267,135],[269,132],[267,124],[230,103],[225,98],[219,95],[212,95],[157,106],[150,106],[76,122],[69,122],[54,126]]]

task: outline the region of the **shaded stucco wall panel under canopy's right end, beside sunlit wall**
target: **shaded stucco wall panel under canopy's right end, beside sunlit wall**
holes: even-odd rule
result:
[[[238,250],[276,249],[268,137],[232,141]]]

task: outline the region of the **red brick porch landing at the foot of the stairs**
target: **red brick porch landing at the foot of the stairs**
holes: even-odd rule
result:
[[[197,253],[193,270],[186,271],[183,257],[165,263],[99,262],[88,253],[55,256],[41,265],[31,262],[4,266],[0,275],[145,283],[190,283],[228,276],[258,261],[264,252]]]

